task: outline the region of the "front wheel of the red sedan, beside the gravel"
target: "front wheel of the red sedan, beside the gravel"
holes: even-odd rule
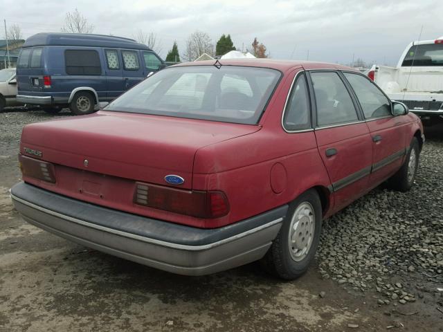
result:
[[[419,144],[416,137],[410,142],[410,148],[401,168],[388,180],[388,187],[399,192],[407,192],[413,186],[417,175]]]

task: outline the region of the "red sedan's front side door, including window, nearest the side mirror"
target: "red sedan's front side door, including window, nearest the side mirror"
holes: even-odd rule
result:
[[[350,72],[343,75],[359,100],[372,136],[374,165],[371,184],[378,185],[403,163],[408,121],[402,116],[392,116],[390,100],[368,77]]]

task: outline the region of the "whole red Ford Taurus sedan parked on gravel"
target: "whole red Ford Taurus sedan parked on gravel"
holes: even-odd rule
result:
[[[413,185],[422,124],[352,68],[222,60],[166,68],[89,116],[24,127],[29,223],[183,275],[261,259],[307,270],[324,219]]]

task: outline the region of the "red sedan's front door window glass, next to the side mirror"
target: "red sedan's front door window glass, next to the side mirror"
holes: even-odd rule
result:
[[[363,109],[365,118],[390,116],[390,102],[367,78],[353,73],[344,73]]]

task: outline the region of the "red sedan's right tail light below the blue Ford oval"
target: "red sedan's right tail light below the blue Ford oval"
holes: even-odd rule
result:
[[[197,218],[218,218],[229,212],[223,192],[182,190],[147,183],[136,183],[134,203]]]

